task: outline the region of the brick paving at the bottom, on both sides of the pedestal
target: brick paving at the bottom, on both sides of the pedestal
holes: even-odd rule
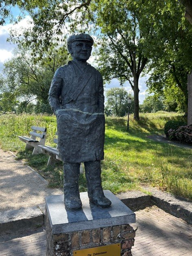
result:
[[[138,227],[133,256],[192,256],[192,226],[152,207],[135,212]],[[45,256],[46,232],[8,237],[0,242],[0,256]]]

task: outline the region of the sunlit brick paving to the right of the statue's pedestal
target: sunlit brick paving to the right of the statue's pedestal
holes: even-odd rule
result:
[[[153,209],[154,207],[152,207]],[[159,208],[135,212],[135,256],[192,256],[192,225]]]

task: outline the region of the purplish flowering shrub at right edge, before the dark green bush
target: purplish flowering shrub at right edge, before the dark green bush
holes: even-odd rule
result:
[[[175,132],[175,137],[180,142],[192,144],[192,125],[181,126]]]

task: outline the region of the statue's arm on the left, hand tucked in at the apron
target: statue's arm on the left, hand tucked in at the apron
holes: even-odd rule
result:
[[[61,75],[61,68],[58,68],[52,79],[52,83],[49,90],[49,98],[48,98],[49,104],[54,114],[58,109],[61,109],[60,95],[61,95],[62,85],[63,85],[63,79]]]

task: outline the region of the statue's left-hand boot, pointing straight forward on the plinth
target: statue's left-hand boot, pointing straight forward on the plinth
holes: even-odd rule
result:
[[[64,162],[64,202],[68,210],[81,208],[82,202],[79,195],[80,164]]]

